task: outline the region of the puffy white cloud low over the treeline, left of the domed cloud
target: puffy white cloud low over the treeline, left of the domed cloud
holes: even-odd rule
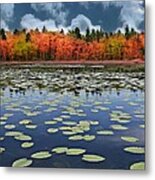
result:
[[[47,19],[45,21],[41,21],[39,18],[36,18],[33,14],[26,14],[22,17],[20,22],[22,28],[26,29],[36,29],[42,30],[45,26],[48,30],[56,31],[57,27],[55,21],[52,19]]]

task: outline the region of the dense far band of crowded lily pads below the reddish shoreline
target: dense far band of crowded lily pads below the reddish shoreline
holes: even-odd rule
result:
[[[27,89],[48,88],[52,92],[100,93],[105,89],[144,90],[144,73],[117,73],[95,71],[55,70],[38,72],[27,69],[2,69],[0,87],[10,88],[11,92],[24,92]],[[2,92],[3,93],[3,92]]]

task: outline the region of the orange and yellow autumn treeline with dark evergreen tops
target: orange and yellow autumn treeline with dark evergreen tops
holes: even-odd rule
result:
[[[51,32],[43,27],[14,32],[0,30],[1,61],[35,60],[131,60],[144,59],[143,32],[125,28],[125,33],[107,33],[100,30],[86,30],[83,34],[77,27],[64,33]]]

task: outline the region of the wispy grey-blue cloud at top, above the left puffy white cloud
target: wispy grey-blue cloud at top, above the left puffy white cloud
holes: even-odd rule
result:
[[[64,4],[61,2],[53,3],[33,3],[31,7],[36,11],[42,11],[51,16],[56,24],[66,24],[68,11],[64,9]]]

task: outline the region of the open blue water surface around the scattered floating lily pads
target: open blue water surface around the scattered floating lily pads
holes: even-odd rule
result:
[[[134,104],[130,104],[134,102]],[[25,107],[26,106],[26,107]],[[109,110],[92,112],[97,106],[108,107]],[[121,107],[120,107],[121,106]],[[36,116],[27,116],[27,111],[39,112]],[[56,110],[45,112],[49,107]],[[62,122],[54,125],[45,125],[44,122],[52,120],[54,117],[60,117],[64,114],[66,107],[72,107],[74,110],[83,110],[85,116],[70,115],[69,119],[63,121],[80,120],[96,120],[98,125],[92,125],[90,131],[84,134],[95,135],[93,141],[71,141],[69,136],[63,135],[59,130],[57,133],[49,134],[47,129],[50,127],[59,128],[65,126]],[[113,110],[119,110],[129,113],[132,118],[128,123],[118,123],[110,120],[110,113]],[[144,124],[144,118],[136,117],[135,111],[144,114],[144,92],[130,90],[104,91],[99,94],[86,94],[81,91],[78,96],[73,93],[52,93],[46,90],[27,90],[22,93],[10,93],[9,88],[4,90],[1,98],[1,117],[5,113],[12,113],[6,124],[16,125],[15,129],[5,129],[5,125],[1,124],[0,137],[5,137],[7,131],[20,131],[30,135],[34,146],[31,148],[21,148],[22,141],[15,140],[13,137],[5,137],[0,141],[0,147],[5,147],[5,152],[0,154],[0,166],[11,166],[12,163],[20,158],[27,157],[31,159],[34,152],[48,150],[54,147],[65,146],[68,148],[84,148],[88,154],[97,154],[106,158],[103,162],[90,163],[82,161],[82,155],[68,156],[66,154],[53,154],[51,158],[33,160],[31,167],[60,167],[60,168],[101,168],[101,169],[129,169],[134,162],[144,161],[144,154],[133,154],[125,152],[123,149],[128,146],[144,147],[144,128],[140,125]],[[19,121],[23,119],[31,119],[33,124],[37,125],[36,129],[27,129],[24,125],[20,125]],[[112,124],[122,124],[128,127],[127,130],[113,130]],[[108,129],[114,132],[112,136],[98,135],[98,130]],[[125,142],[121,136],[134,136],[139,139],[138,142]]]

